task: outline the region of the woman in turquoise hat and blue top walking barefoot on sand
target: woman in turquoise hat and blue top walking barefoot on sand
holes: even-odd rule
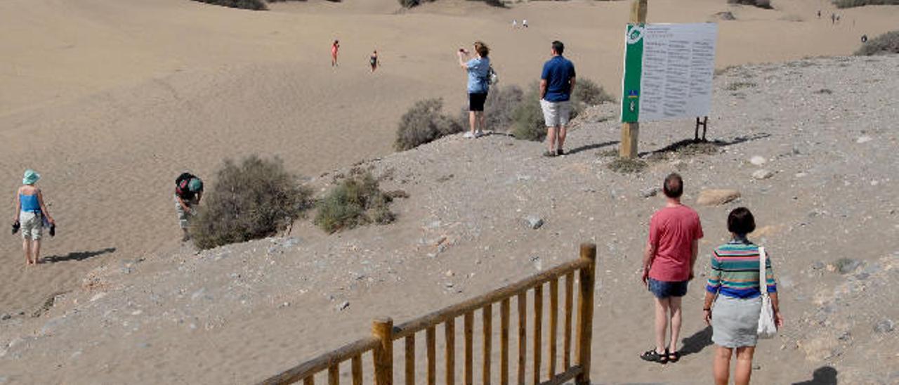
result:
[[[15,218],[13,219],[13,234],[22,230],[22,251],[25,252],[25,264],[40,263],[40,237],[44,227],[44,221],[49,223],[50,236],[56,230],[56,221],[50,216],[47,205],[44,204],[44,195],[34,184],[40,179],[40,174],[34,170],[25,170],[22,176],[22,187],[15,194]]]

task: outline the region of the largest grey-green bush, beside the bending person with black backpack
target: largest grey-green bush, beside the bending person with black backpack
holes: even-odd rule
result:
[[[303,217],[310,194],[278,157],[226,159],[189,231],[201,249],[270,237]]]

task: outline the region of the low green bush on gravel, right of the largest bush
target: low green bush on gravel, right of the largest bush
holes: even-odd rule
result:
[[[352,175],[318,202],[315,224],[328,233],[368,223],[387,224],[396,218],[388,207],[390,201],[370,174]]]

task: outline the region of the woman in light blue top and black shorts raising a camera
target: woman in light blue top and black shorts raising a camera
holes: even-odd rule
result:
[[[475,58],[464,48],[458,49],[458,65],[468,74],[468,125],[470,130],[464,137],[468,139],[484,135],[484,103],[490,89],[490,49],[483,41],[475,41]]]

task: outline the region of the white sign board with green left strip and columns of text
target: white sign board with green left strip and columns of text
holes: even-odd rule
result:
[[[621,121],[708,116],[718,26],[628,24]]]

